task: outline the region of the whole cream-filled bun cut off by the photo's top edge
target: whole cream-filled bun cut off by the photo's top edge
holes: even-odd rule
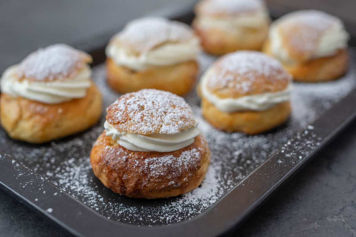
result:
[[[206,52],[222,55],[236,50],[260,50],[270,18],[263,0],[201,0],[193,28]]]

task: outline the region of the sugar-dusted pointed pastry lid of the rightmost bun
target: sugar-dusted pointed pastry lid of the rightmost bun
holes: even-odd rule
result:
[[[343,28],[339,18],[326,12],[301,10],[279,18],[273,27],[277,27],[282,44],[289,53],[304,60],[311,57],[318,48],[321,37],[335,25]]]

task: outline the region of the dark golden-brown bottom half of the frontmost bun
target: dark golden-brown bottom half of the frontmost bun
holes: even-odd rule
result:
[[[181,161],[182,156],[185,162]],[[208,170],[210,150],[204,138],[198,136],[193,144],[177,151],[130,151],[103,132],[91,150],[90,162],[95,176],[115,193],[134,198],[165,198],[200,185]]]

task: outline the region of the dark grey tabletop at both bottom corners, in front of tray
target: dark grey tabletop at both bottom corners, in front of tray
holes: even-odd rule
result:
[[[356,122],[229,236],[356,236]],[[0,191],[0,236],[71,236]]]

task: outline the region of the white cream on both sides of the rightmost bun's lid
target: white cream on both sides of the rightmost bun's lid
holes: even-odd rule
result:
[[[278,21],[271,26],[269,32],[272,54],[284,62],[293,62],[288,50],[282,44],[282,37],[278,31]],[[312,58],[331,56],[337,53],[339,49],[347,47],[347,41],[350,36],[346,32],[341,21],[337,21],[320,38]]]

